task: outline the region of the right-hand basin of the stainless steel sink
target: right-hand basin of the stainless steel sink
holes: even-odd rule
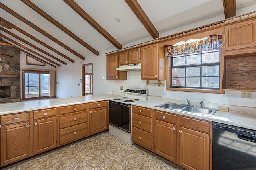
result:
[[[217,110],[216,109],[208,109],[208,108],[200,108],[200,107],[185,107],[181,110],[182,112],[203,115],[203,116],[212,116]]]

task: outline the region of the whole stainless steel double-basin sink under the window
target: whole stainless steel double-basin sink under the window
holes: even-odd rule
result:
[[[207,117],[211,117],[217,111],[216,109],[212,109],[212,108],[201,108],[196,106],[187,106],[183,104],[176,104],[176,103],[170,103],[170,102],[160,104],[155,107],[180,111],[180,112],[189,113],[193,115],[207,116]]]

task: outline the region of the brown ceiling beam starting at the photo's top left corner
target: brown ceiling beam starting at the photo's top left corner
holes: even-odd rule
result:
[[[42,30],[41,28],[39,28],[38,26],[34,25],[33,23],[31,23],[30,21],[26,20],[24,17],[20,16],[18,13],[14,12],[13,10],[11,10],[10,8],[8,8],[7,6],[5,6],[4,4],[2,4],[0,2],[0,7],[5,10],[6,12],[8,12],[9,14],[12,14],[14,17],[18,18],[19,20],[21,20],[22,22],[26,23],[27,25],[29,25],[30,27],[32,27],[33,29],[35,29],[36,31],[38,31],[39,33],[41,33],[42,35],[46,36],[47,38],[49,38],[50,40],[54,41],[55,43],[57,43],[58,45],[62,46],[64,49],[70,51],[71,53],[73,53],[74,55],[76,55],[77,57],[79,57],[80,59],[84,60],[84,56],[80,55],[79,53],[77,53],[76,51],[74,51],[73,49],[71,49],[70,47],[68,47],[67,45],[65,45],[64,43],[62,43],[61,41],[59,41],[58,39],[54,38],[52,35],[48,34],[46,31]]]

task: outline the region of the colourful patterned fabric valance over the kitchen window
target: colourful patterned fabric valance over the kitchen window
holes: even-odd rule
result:
[[[222,35],[210,35],[203,40],[181,45],[166,45],[164,57],[174,57],[202,51],[222,49]]]

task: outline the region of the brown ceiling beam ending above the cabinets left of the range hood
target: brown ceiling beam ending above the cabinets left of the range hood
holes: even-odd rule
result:
[[[100,24],[98,24],[89,14],[87,14],[74,0],[63,0],[70,6],[77,14],[86,20],[94,29],[96,29],[103,37],[105,37],[116,48],[122,49],[122,45],[116,41]]]

